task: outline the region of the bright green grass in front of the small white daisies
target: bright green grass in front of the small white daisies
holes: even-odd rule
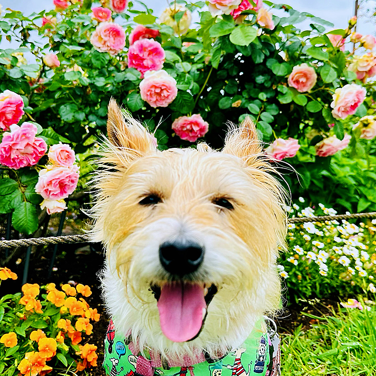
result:
[[[340,309],[309,330],[282,334],[283,376],[376,375],[376,308]]]

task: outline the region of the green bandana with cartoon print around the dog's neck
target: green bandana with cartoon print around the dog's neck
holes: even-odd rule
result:
[[[261,339],[260,339],[261,337]],[[260,330],[255,330],[243,343],[242,347],[230,351],[221,360],[213,359],[193,365],[151,367],[150,360],[132,354],[128,341],[115,332],[110,323],[105,338],[103,367],[108,376],[265,376],[270,362],[269,337]],[[145,356],[148,356],[146,353]],[[142,362],[138,363],[138,360]],[[149,365],[148,365],[149,364]],[[274,373],[272,373],[274,374]]]

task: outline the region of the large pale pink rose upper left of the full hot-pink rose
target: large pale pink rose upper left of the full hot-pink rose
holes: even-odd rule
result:
[[[125,47],[125,32],[118,24],[103,22],[95,29],[90,42],[99,52],[114,56]]]

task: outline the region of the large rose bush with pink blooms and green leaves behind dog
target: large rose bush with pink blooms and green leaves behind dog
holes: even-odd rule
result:
[[[4,36],[21,40],[19,49],[0,51],[2,137],[13,124],[32,122],[36,138],[69,144],[83,166],[105,133],[111,97],[154,133],[160,149],[200,139],[220,148],[226,121],[250,116],[273,163],[283,159],[297,171],[283,176],[293,197],[312,204],[325,197],[338,211],[376,210],[374,38],[353,33],[353,18],[333,30],[261,0],[210,0],[209,11],[204,2],[181,3],[160,15],[124,0],[51,5],[33,17],[7,10],[0,22]],[[307,30],[292,27],[304,20]],[[35,61],[26,61],[26,51]],[[61,160],[71,163],[65,151]],[[56,160],[3,164],[0,212],[12,213],[17,230],[36,231],[40,208],[66,208],[78,172]]]

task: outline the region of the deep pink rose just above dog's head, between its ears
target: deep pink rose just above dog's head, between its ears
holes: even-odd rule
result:
[[[180,116],[172,123],[172,129],[182,139],[195,142],[208,132],[209,124],[200,114]]]

